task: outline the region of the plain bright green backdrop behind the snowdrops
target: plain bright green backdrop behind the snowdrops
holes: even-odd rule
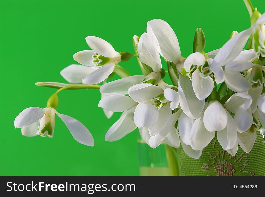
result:
[[[252,3],[265,11],[264,0]],[[0,1],[0,175],[139,175],[137,131],[117,142],[104,141],[120,113],[104,116],[98,90],[62,91],[57,108],[87,126],[94,147],[77,143],[58,117],[53,138],[22,136],[14,118],[27,107],[45,107],[55,89],[34,83],[66,82],[59,72],[76,63],[74,53],[89,49],[86,36],[133,53],[133,35],[140,36],[155,18],[176,32],[184,57],[192,53],[197,27],[204,30],[208,52],[250,25],[241,0]],[[131,74],[141,72],[134,57],[120,65]]]

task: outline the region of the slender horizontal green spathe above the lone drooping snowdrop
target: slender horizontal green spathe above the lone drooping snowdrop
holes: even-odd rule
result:
[[[61,90],[78,90],[78,89],[99,89],[101,85],[86,85],[86,84],[67,84],[58,82],[37,82],[37,86],[43,86],[48,88],[56,88]],[[59,90],[57,92],[59,92]]]

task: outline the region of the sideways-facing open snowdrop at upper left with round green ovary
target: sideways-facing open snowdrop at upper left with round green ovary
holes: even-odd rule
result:
[[[98,68],[83,78],[83,83],[92,85],[103,82],[113,72],[117,63],[128,61],[131,55],[127,52],[117,52],[107,41],[95,37],[86,37],[86,42],[92,50],[79,51],[73,58],[80,64]]]

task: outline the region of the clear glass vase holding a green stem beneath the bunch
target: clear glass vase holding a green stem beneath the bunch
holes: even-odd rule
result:
[[[179,161],[176,149],[162,143],[153,149],[138,135],[140,176],[178,176]]]

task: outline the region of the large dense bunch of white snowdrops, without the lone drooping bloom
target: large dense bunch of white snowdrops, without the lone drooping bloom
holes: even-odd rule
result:
[[[233,32],[222,48],[208,53],[195,51],[187,58],[181,55],[173,29],[160,19],[149,21],[147,32],[140,38],[133,37],[135,55],[119,53],[105,40],[88,36],[86,42],[92,50],[74,54],[81,65],[70,65],[61,75],[70,83],[104,83],[98,106],[108,118],[113,112],[123,112],[108,130],[107,141],[119,140],[139,128],[142,139],[152,148],[162,142],[172,147],[181,144],[195,159],[216,134],[231,155],[236,154],[238,145],[250,152],[256,130],[265,127],[265,14],[255,11],[253,16],[251,27]],[[244,50],[248,39],[253,49]],[[137,55],[143,75],[106,82],[117,63]],[[163,80],[161,56],[173,85]],[[48,109],[38,110],[42,122]],[[94,141],[83,143],[93,145]]]

